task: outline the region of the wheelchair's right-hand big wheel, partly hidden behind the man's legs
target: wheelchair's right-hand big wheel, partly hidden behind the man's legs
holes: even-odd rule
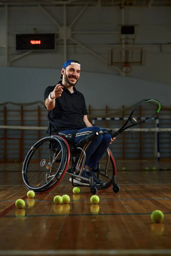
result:
[[[107,189],[113,185],[113,176],[117,174],[115,158],[109,148],[98,163],[97,178],[104,182],[104,186],[96,186],[97,189]]]

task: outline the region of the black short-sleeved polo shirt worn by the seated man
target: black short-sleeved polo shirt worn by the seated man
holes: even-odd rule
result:
[[[62,81],[58,84],[62,85]],[[44,99],[48,98],[49,93],[55,86],[48,86],[44,93]],[[61,97],[55,99],[55,108],[48,110],[48,121],[52,125],[52,133],[65,130],[79,130],[86,127],[83,121],[87,115],[84,96],[73,87],[74,93],[63,87]]]

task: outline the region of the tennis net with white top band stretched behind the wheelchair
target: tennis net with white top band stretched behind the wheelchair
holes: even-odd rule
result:
[[[20,172],[28,151],[48,136],[46,131],[47,127],[1,125],[0,172]],[[171,169],[171,128],[127,129],[109,148],[118,170]]]

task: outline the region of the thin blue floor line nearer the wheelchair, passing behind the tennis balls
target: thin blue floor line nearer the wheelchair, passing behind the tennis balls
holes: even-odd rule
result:
[[[30,199],[34,199],[34,198],[30,198]],[[27,199],[28,200],[28,199]],[[27,201],[25,200],[25,202]],[[34,199],[35,200],[35,199]],[[70,199],[70,201],[89,201],[90,199],[79,199],[79,200],[73,200]],[[130,199],[100,199],[100,201],[137,201],[137,200],[171,200],[171,198],[130,198]],[[0,200],[0,202],[15,202],[16,200]],[[53,200],[35,200],[35,202],[52,202]]]

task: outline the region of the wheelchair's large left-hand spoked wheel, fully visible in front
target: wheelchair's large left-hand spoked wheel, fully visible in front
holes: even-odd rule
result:
[[[69,145],[64,138],[42,138],[31,147],[23,164],[26,187],[38,194],[50,191],[62,180],[69,160]]]

